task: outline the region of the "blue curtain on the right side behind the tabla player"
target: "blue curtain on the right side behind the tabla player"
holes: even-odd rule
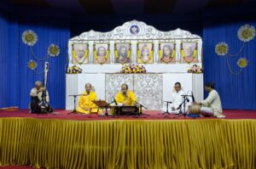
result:
[[[222,100],[224,109],[256,110],[256,39],[247,42],[243,52],[230,59],[231,69],[238,71],[237,59],[245,57],[248,66],[239,76],[233,76],[228,70],[226,59],[215,54],[218,42],[227,42],[230,54],[237,54],[242,42],[237,37],[241,25],[248,24],[256,27],[256,21],[222,21],[208,20],[203,28],[203,65],[205,82],[215,82],[216,89]]]

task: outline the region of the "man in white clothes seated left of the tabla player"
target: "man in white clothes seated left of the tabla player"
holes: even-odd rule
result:
[[[181,87],[180,82],[176,82],[173,87],[173,91],[171,93],[171,102],[172,104],[169,104],[169,110],[173,113],[178,113],[181,107],[179,107],[183,103],[183,89]],[[166,110],[166,107],[163,108],[163,110]]]

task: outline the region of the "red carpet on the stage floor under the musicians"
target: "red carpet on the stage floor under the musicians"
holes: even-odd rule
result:
[[[100,116],[100,115],[82,115],[82,114],[68,114],[69,110],[55,110],[55,114],[38,115],[29,114],[28,110],[17,111],[0,111],[0,118],[2,117],[23,117],[23,118],[38,118],[38,119],[65,119],[65,120],[79,120],[79,121],[92,121],[92,120],[189,120],[193,119],[183,115],[160,115],[161,111],[145,110],[143,115],[123,115],[123,116]],[[256,110],[224,110],[224,119],[256,119]],[[198,117],[194,119],[216,119],[215,117]]]

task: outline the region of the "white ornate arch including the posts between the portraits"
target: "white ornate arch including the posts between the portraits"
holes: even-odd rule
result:
[[[137,26],[137,34],[131,33],[132,26]],[[201,48],[202,48],[202,39],[200,36],[191,34],[189,31],[184,31],[177,28],[174,31],[159,31],[154,28],[152,25],[147,25],[142,21],[131,20],[125,22],[125,24],[120,25],[113,29],[113,31],[100,32],[100,31],[86,31],[81,33],[77,37],[72,37],[68,42],[68,56],[69,63],[72,63],[72,44],[73,43],[89,43],[89,60],[92,64],[93,60],[93,44],[108,42],[110,44],[110,59],[111,64],[114,62],[114,42],[131,42],[131,60],[133,64],[136,64],[137,60],[137,42],[154,42],[154,63],[157,64],[158,60],[158,50],[159,42],[176,42],[177,46],[177,64],[179,63],[180,57],[180,44],[181,42],[198,42],[198,60],[201,63]],[[98,65],[96,65],[98,67]],[[103,70],[105,66],[101,66]],[[108,65],[107,65],[108,67]],[[119,66],[118,66],[119,67]],[[150,67],[150,65],[149,65]],[[174,65],[175,67],[175,65]],[[82,65],[82,69],[86,68]],[[108,69],[107,69],[108,70]],[[108,71],[109,72],[109,71]]]

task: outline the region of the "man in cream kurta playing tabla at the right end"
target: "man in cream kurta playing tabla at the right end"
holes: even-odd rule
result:
[[[214,90],[214,84],[207,82],[205,89],[209,93],[207,99],[202,100],[200,103],[195,103],[201,105],[201,115],[224,117],[222,115],[221,101],[218,92]]]

